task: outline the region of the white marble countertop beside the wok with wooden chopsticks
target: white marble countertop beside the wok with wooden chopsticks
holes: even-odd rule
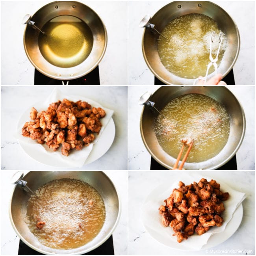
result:
[[[236,96],[245,111],[246,130],[241,147],[236,153],[238,170],[255,170],[255,87],[254,86],[227,86]],[[142,106],[138,100],[143,93],[154,93],[159,86],[129,86],[129,170],[149,170],[150,154],[148,153],[139,130],[139,120]]]

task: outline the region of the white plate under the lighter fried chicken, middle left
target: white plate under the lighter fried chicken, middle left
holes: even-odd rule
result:
[[[87,98],[84,98],[82,96],[76,96],[79,100],[85,100],[92,104],[93,106],[98,105],[102,107],[100,104],[93,100],[89,100]],[[102,107],[104,108],[104,107]],[[30,108],[31,109],[31,108]],[[18,128],[22,126],[26,121],[29,121],[29,113],[30,110],[26,110],[20,117],[20,120],[18,122]],[[25,121],[24,121],[25,120]],[[108,122],[108,124],[105,126],[101,136],[99,137],[98,141],[96,144],[93,145],[93,149],[91,150],[88,158],[85,160],[85,165],[92,163],[93,161],[97,160],[101,156],[103,156],[108,149],[111,147],[113,141],[115,138],[115,123],[113,121],[113,118],[111,118]],[[28,138],[29,139],[29,138]],[[19,144],[22,147],[22,149],[28,154],[31,158],[36,160],[39,163],[43,163],[48,166],[52,167],[58,167],[58,168],[67,168],[67,165],[65,162],[61,161],[61,158],[56,158],[54,154],[50,155],[47,154],[45,150],[42,150],[40,147],[35,147],[35,145],[31,145],[29,143],[26,143],[24,141],[19,140]],[[61,152],[59,152],[61,154]],[[74,152],[75,154],[75,152]],[[69,168],[72,167],[77,167],[76,165],[74,166],[69,166]]]

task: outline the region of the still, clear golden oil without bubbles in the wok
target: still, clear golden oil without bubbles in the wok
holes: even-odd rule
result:
[[[93,34],[82,20],[61,15],[48,21],[39,34],[38,45],[43,57],[58,67],[74,67],[82,63],[93,47]]]

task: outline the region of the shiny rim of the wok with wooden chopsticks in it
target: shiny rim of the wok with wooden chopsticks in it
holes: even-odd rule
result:
[[[164,85],[163,85],[164,86]],[[191,85],[193,86],[193,85]],[[161,89],[162,86],[160,86],[156,91],[154,91],[154,93],[156,93],[158,90]],[[194,86],[193,86],[194,87]],[[198,86],[199,87],[199,86]],[[234,148],[233,152],[230,154],[230,156],[228,156],[224,161],[222,161],[221,163],[218,163],[217,165],[213,165],[213,167],[211,167],[211,169],[195,169],[195,171],[202,171],[202,170],[216,170],[217,168],[223,166],[225,163],[227,163],[237,152],[237,150],[240,148],[242,142],[243,142],[243,138],[245,136],[245,130],[246,130],[246,119],[245,119],[245,112],[243,110],[243,107],[241,105],[241,103],[239,102],[239,100],[236,98],[236,96],[226,87],[226,86],[222,86],[224,87],[237,101],[239,107],[240,107],[240,110],[241,110],[241,115],[242,115],[242,121],[243,121],[243,130],[242,130],[242,134],[241,134],[241,137],[239,139],[239,142],[237,143],[237,146]],[[154,94],[152,93],[152,95]],[[181,96],[181,95],[180,95]],[[210,97],[211,98],[211,97]],[[144,113],[144,109],[145,109],[145,105],[143,106],[143,109],[141,111],[141,117],[140,117],[140,122],[139,122],[139,125],[140,125],[140,132],[141,132],[141,138],[142,138],[142,141],[145,145],[145,147],[147,148],[148,152],[150,153],[150,155],[152,156],[152,158],[154,158],[154,160],[156,160],[158,163],[160,163],[160,165],[162,165],[163,167],[169,169],[169,170],[173,170],[173,167],[167,165],[166,163],[164,163],[163,161],[159,160],[155,155],[154,153],[152,152],[152,150],[150,149],[150,147],[147,145],[147,142],[146,142],[146,139],[145,139],[145,136],[143,134],[143,129],[142,129],[142,118],[143,118],[143,113]],[[161,147],[161,146],[160,146]],[[221,152],[221,151],[220,151]],[[219,153],[220,153],[219,152]],[[218,154],[219,154],[218,153]],[[210,158],[211,159],[211,158]],[[186,171],[191,171],[191,169],[185,169]]]

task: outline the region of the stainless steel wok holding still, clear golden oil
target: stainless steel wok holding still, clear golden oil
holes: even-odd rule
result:
[[[35,22],[37,27],[42,28],[49,20],[61,15],[70,15],[79,18],[85,22],[91,30],[93,46],[89,56],[84,59],[82,63],[72,67],[58,67],[51,64],[43,57],[39,49],[39,30],[35,30],[29,25],[26,25],[24,32],[24,48],[28,59],[39,72],[50,78],[71,80],[84,76],[95,69],[106,51],[107,32],[102,20],[95,11],[88,6],[75,1],[51,2],[39,9],[31,17],[31,20]],[[59,58],[59,56],[56,56],[56,58]]]

